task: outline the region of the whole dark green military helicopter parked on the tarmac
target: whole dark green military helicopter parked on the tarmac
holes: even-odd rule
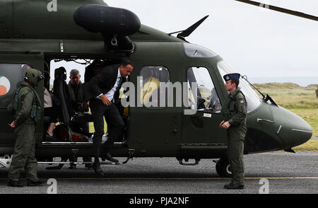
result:
[[[126,161],[104,160],[101,164],[124,164],[133,157],[175,157],[181,165],[196,165],[201,159],[220,158],[216,161],[216,171],[221,176],[230,176],[227,133],[219,124],[223,120],[220,108],[228,96],[223,75],[233,70],[215,52],[185,40],[206,18],[177,32],[175,37],[173,33],[141,25],[131,11],[107,6],[104,1],[59,1],[58,4],[54,0],[1,1],[0,165],[8,167],[11,163],[15,137],[13,129],[8,127],[12,115],[6,108],[26,70],[50,72],[54,70],[51,63],[61,60],[78,62],[80,59],[88,64],[100,60],[107,64],[129,56],[134,63],[129,82],[139,88],[135,96],[130,94],[129,102],[134,100],[137,105],[122,110],[125,136],[112,149],[114,157],[124,157]],[[56,70],[52,79],[54,85],[63,88],[65,71]],[[180,92],[177,85],[168,91],[160,83],[184,85],[180,84]],[[190,83],[197,83],[197,87]],[[42,101],[43,86],[40,83],[37,88]],[[257,94],[244,77],[240,87],[248,103],[245,154],[293,151],[294,146],[312,137],[312,128],[305,120],[276,105],[269,95]],[[56,127],[58,140],[47,141],[45,117],[36,134],[38,163],[59,164],[50,166],[51,169],[66,163],[83,164],[66,160],[90,156],[93,146],[91,137],[73,131],[70,125],[73,115],[65,105],[67,96],[57,91],[61,99],[61,112],[57,112],[61,115],[60,125]],[[167,104],[156,100],[161,93],[174,104],[148,105]],[[185,100],[183,105],[176,105],[179,98]],[[186,113],[187,110],[191,113]],[[84,139],[75,140],[74,136]],[[62,160],[54,161],[56,157]],[[189,163],[189,159],[194,162]]]

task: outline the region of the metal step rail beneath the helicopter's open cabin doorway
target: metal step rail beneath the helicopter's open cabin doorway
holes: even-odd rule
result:
[[[78,154],[78,149],[72,149],[71,150],[73,153],[73,161],[67,161],[68,158],[61,158],[60,162],[57,161],[41,161],[41,162],[37,162],[38,164],[48,164],[48,165],[59,165],[56,167],[47,167],[45,168],[46,170],[59,170],[61,169],[65,164],[69,164],[69,165],[86,165],[86,164],[93,164],[93,162],[78,162],[75,160],[75,158],[77,158],[77,154]],[[102,158],[102,161],[100,162],[100,165],[124,165],[126,163],[128,163],[128,161],[132,158],[132,156],[134,155],[135,150],[134,149],[129,149],[128,150],[128,156],[126,158],[125,161],[122,162],[118,162],[118,163],[112,163],[112,162],[104,162],[105,160]]]

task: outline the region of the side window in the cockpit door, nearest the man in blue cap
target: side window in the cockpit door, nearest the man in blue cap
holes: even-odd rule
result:
[[[199,111],[220,113],[222,106],[216,88],[208,69],[204,67],[190,67],[187,71],[189,106],[196,105]],[[196,83],[195,85],[193,83]],[[197,86],[196,90],[191,87]],[[194,93],[196,92],[196,96]]]

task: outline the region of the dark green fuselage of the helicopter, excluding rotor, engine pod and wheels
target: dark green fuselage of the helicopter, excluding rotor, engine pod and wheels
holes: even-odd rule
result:
[[[107,50],[102,35],[90,33],[73,22],[72,14],[85,2],[80,4],[76,1],[72,6],[60,6],[56,13],[46,11],[47,3],[42,1],[34,5],[25,2],[21,1],[18,5],[5,3],[6,7],[16,9],[16,13],[10,14],[16,21],[4,25],[8,29],[0,35],[0,75],[11,84],[10,90],[0,96],[0,155],[13,153],[15,137],[13,129],[8,126],[12,115],[6,106],[13,97],[16,83],[24,75],[23,70],[32,67],[44,71],[45,67],[50,68],[49,62],[57,59],[118,59],[128,54],[134,63],[129,82],[135,86],[136,105],[126,109],[126,139],[114,144],[112,155],[124,157],[133,149],[135,157],[187,160],[226,156],[228,136],[226,130],[219,127],[223,120],[220,108],[228,96],[222,76],[234,71],[218,54],[146,25],[141,25],[137,33],[129,35],[134,43],[131,52]],[[22,9],[23,6],[43,7],[37,16],[32,17],[34,23],[30,23],[31,17],[23,10],[25,7]],[[143,77],[143,83],[139,77]],[[162,82],[180,84],[176,84],[172,91],[166,91],[158,85]],[[191,93],[192,87],[187,86],[192,82],[198,83],[198,94],[195,96]],[[310,139],[312,128],[305,120],[269,100],[259,98],[243,79],[240,85],[248,105],[245,154],[291,149]],[[153,90],[149,90],[149,86]],[[177,86],[181,86],[180,91]],[[37,88],[41,99],[42,88],[43,83]],[[136,91],[137,88],[141,91]],[[146,106],[145,98],[156,102],[153,100],[154,92],[158,95],[166,93],[165,98],[170,98],[173,105]],[[183,103],[177,105],[180,99]],[[184,100],[189,103],[184,103]],[[192,108],[192,104],[196,108]],[[185,113],[187,110],[192,110],[192,113]],[[44,127],[40,125],[36,134],[36,156],[39,161],[54,157],[68,158],[75,153],[76,156],[91,156],[92,142],[44,141],[43,132]]]

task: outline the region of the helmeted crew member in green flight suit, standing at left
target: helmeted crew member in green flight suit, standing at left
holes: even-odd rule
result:
[[[18,86],[13,102],[8,106],[15,112],[13,122],[16,144],[11,166],[8,171],[8,186],[23,187],[20,173],[25,170],[28,186],[42,185],[44,180],[37,178],[37,159],[35,158],[35,129],[41,120],[42,103],[35,88],[43,79],[41,71],[29,69],[25,73],[24,83]]]

